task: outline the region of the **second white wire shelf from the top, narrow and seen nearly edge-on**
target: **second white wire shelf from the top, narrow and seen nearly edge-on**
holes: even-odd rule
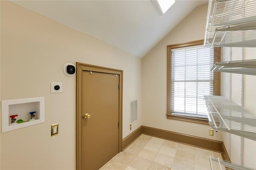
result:
[[[256,75],[256,60],[217,62],[212,71]]]

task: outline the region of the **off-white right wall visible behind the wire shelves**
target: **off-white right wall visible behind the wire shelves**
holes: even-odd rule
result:
[[[241,59],[256,59],[256,48],[223,48],[222,61]],[[256,76],[222,73],[222,96],[256,113],[255,84]],[[256,168],[256,141],[223,133],[223,142],[233,163]]]

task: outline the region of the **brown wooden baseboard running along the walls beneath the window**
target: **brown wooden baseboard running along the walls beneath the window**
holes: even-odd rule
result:
[[[162,139],[167,139],[170,141],[183,143],[186,145],[191,145],[194,147],[199,147],[202,149],[212,150],[214,152],[220,152],[222,154],[223,160],[230,161],[228,152],[221,141],[215,141],[211,139],[195,137],[191,135],[185,135],[182,133],[176,133],[172,131],[166,131],[162,129],[156,129],[153,127],[140,126],[130,135],[122,141],[122,150],[126,149],[135,139],[137,139],[141,134],[150,135]]]

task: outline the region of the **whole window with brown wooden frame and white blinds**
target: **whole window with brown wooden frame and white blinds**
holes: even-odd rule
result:
[[[220,95],[220,73],[210,72],[220,48],[204,48],[203,40],[169,45],[167,117],[207,123],[204,95]]]

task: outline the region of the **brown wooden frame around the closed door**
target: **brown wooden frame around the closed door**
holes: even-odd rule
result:
[[[82,170],[82,72],[102,72],[119,75],[119,141],[118,153],[122,151],[122,120],[123,120],[123,70],[76,63],[76,170]]]

